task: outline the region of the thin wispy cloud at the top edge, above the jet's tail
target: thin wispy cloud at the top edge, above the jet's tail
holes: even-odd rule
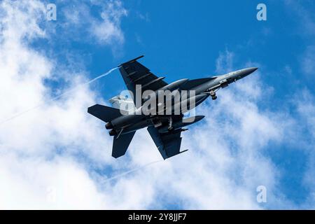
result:
[[[108,45],[114,55],[125,42],[123,30],[120,27],[121,20],[127,17],[127,9],[120,0],[110,1],[73,1],[71,6],[57,3],[62,11],[62,28],[65,34],[83,41],[81,35],[91,37],[90,41],[96,41],[99,45]],[[91,10],[91,6],[98,8]]]

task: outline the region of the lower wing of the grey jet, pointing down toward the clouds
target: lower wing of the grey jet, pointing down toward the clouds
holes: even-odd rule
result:
[[[174,155],[185,152],[180,152],[181,131],[160,133],[157,128],[150,126],[148,127],[148,132],[151,135],[156,147],[158,147],[163,159],[166,160]]]

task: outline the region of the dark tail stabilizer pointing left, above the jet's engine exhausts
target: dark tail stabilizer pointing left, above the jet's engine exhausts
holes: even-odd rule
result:
[[[120,109],[116,109],[113,107],[95,104],[94,106],[90,106],[87,109],[87,113],[92,114],[92,116],[97,117],[104,122],[110,122],[111,120],[118,118],[119,116],[127,114],[127,111],[121,111]]]

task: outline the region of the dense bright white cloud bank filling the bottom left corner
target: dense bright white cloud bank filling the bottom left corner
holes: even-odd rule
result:
[[[1,209],[101,209],[106,206],[89,174],[66,158],[47,161],[2,155]]]

